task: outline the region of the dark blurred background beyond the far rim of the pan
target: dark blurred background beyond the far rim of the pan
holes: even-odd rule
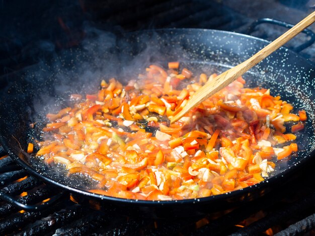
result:
[[[157,28],[205,28],[244,33],[253,21],[273,18],[295,24],[313,0],[35,0],[0,3],[0,76],[80,45],[86,32]],[[315,26],[311,26],[315,30]],[[263,25],[254,36],[275,39],[284,30]],[[303,42],[300,36],[292,44]],[[315,47],[303,52],[313,58]]]

